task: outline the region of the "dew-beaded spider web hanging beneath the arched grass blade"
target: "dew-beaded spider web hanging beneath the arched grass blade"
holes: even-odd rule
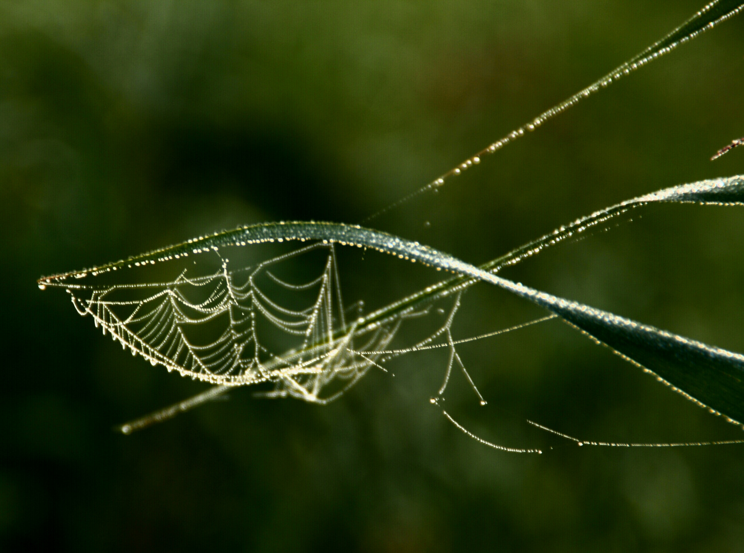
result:
[[[217,247],[200,257],[198,264],[193,261],[188,266],[182,260],[183,267],[171,268],[178,274],[170,280],[153,282],[153,276],[140,274],[142,284],[99,284],[102,277],[89,275],[96,284],[60,285],[71,295],[77,312],[92,316],[104,335],[152,365],[195,380],[219,386],[273,383],[273,389],[261,395],[327,403],[370,368],[385,371],[385,363],[394,357],[449,348],[438,395],[443,394],[452,367],[458,365],[485,403],[452,339],[461,292],[455,294],[448,312],[437,308],[446,316],[433,333],[412,346],[390,349],[403,322],[429,315],[432,304],[401,310],[375,327],[357,329],[356,319],[347,322],[332,243],[304,246],[254,266],[231,262]],[[197,274],[205,272],[205,257],[212,258],[214,271]],[[301,281],[281,275],[283,266],[297,258],[302,258],[302,266],[317,266],[317,272]],[[141,267],[154,269],[147,262]]]

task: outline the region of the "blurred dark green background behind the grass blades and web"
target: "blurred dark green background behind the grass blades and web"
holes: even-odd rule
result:
[[[559,322],[403,357],[329,406],[198,393],[103,339],[36,278],[272,220],[355,223],[609,69],[702,0],[4,1],[0,4],[0,549],[744,550],[743,437]],[[742,173],[744,19],[569,110],[369,226],[472,263],[658,188]],[[744,351],[744,212],[667,206],[504,275]],[[377,294],[435,277],[358,263]],[[401,275],[405,275],[402,278]],[[380,296],[382,297],[382,296]],[[539,316],[464,298],[455,337]]]

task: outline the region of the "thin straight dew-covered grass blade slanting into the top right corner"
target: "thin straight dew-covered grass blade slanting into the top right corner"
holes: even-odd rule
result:
[[[737,15],[737,13],[740,13],[740,11],[743,9],[744,9],[744,1],[740,1],[740,0],[712,1],[710,4],[707,4],[704,7],[702,7],[694,16],[692,16],[690,19],[688,19],[678,28],[674,29],[672,32],[664,36],[664,38],[658,40],[657,42],[654,42],[644,51],[641,51],[640,54],[637,54],[635,57],[632,57],[630,60],[626,61],[625,63],[618,65],[618,67],[610,71],[608,74],[594,81],[594,83],[591,83],[586,88],[581,89],[579,92],[572,95],[571,97],[563,100],[561,103],[557,103],[555,106],[551,107],[551,109],[548,109],[545,112],[542,112],[540,115],[537,115],[531,121],[522,125],[522,127],[519,127],[513,130],[512,132],[510,132],[503,138],[497,140],[496,142],[493,142],[492,144],[489,144],[487,147],[484,147],[483,150],[479,151],[474,156],[471,156],[468,159],[464,160],[464,162],[461,162],[455,167],[452,167],[452,169],[450,169],[443,175],[440,175],[439,177],[437,177],[437,179],[434,179],[432,182],[429,182],[428,184],[419,188],[417,191],[411,192],[411,194],[403,196],[403,198],[398,199],[396,202],[393,202],[390,205],[386,206],[385,208],[382,208],[381,210],[376,211],[375,213],[371,214],[369,217],[367,217],[363,221],[363,223],[367,223],[368,221],[371,221],[375,219],[376,217],[379,217],[380,215],[386,213],[387,211],[397,208],[403,203],[408,202],[408,200],[412,199],[414,196],[418,196],[419,194],[423,194],[426,191],[439,188],[440,186],[444,185],[445,181],[449,179],[449,177],[458,176],[462,174],[464,171],[468,170],[473,165],[479,164],[481,162],[481,159],[484,156],[490,155],[492,153],[495,153],[498,150],[501,150],[501,148],[503,148],[510,142],[513,142],[517,138],[524,136],[527,132],[532,132],[533,130],[536,130],[538,127],[541,127],[542,124],[545,123],[545,121],[548,121],[549,119],[554,118],[556,115],[559,115],[559,113],[564,112],[566,109],[570,108],[571,106],[574,106],[575,104],[579,103],[581,100],[585,98],[589,98],[589,96],[593,95],[596,92],[599,92],[601,89],[607,88],[615,81],[619,80],[620,78],[624,77],[627,74],[632,73],[632,71],[635,71],[636,69],[641,68],[643,65],[646,65],[647,63],[655,60],[656,58],[661,57],[664,54],[668,54],[670,51],[673,51],[679,45],[684,44],[684,42],[689,42],[690,40],[696,38],[696,36],[699,36],[700,34],[704,33],[705,31],[709,31],[710,29],[712,29],[719,23],[722,23],[725,20],[730,19],[731,17]]]

